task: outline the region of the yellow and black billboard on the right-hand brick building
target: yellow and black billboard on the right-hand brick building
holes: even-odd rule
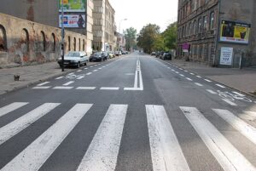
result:
[[[222,20],[220,27],[220,42],[249,43],[251,25],[236,21]]]

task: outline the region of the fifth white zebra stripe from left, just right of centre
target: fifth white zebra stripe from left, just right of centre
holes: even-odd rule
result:
[[[164,106],[146,105],[146,111],[154,171],[190,170]]]

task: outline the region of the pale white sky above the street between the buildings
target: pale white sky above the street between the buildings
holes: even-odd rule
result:
[[[160,31],[177,21],[177,0],[109,0],[115,10],[117,31],[134,27],[137,33],[147,24],[160,26]],[[127,19],[127,20],[124,20]]]

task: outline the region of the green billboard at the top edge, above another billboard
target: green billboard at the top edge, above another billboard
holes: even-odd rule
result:
[[[85,12],[86,0],[63,0],[64,12]],[[61,12],[61,0],[59,0],[59,10]]]

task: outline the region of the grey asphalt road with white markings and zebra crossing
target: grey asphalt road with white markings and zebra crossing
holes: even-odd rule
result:
[[[256,100],[146,54],[0,96],[0,170],[256,170]]]

